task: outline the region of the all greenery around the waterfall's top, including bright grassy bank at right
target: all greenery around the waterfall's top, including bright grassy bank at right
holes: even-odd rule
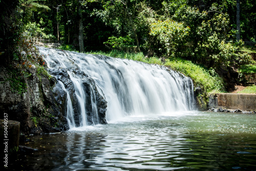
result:
[[[51,80],[34,37],[179,71],[193,79],[203,109],[209,94],[233,91],[256,73],[255,48],[244,50],[255,47],[254,0],[0,0],[0,17],[0,73],[10,74],[1,81],[18,94],[34,72]]]

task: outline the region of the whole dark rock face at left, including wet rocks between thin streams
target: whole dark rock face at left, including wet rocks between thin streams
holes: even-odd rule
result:
[[[22,93],[11,88],[12,75],[7,68],[0,66],[0,110],[7,113],[10,120],[20,122],[20,132],[23,134],[42,134],[60,132],[69,129],[67,114],[67,92],[62,90],[61,81],[70,93],[74,109],[75,123],[79,125],[80,109],[73,83],[65,69],[51,69],[50,77],[38,73],[36,69],[28,69],[29,77],[23,77],[27,85]],[[86,93],[88,122],[106,123],[106,101],[99,94],[94,80],[81,71],[72,70],[78,75]],[[96,104],[96,108],[93,108]],[[94,115],[98,114],[97,118]],[[3,116],[2,116],[3,117]]]

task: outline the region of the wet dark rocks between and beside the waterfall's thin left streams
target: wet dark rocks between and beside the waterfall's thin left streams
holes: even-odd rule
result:
[[[87,121],[89,124],[104,124],[106,123],[105,120],[105,113],[106,113],[106,101],[105,99],[99,94],[97,86],[94,82],[94,80],[90,77],[88,77],[87,74],[85,74],[82,71],[79,70],[72,70],[70,72],[73,72],[81,81],[82,81],[82,88],[86,95],[86,113],[87,113]],[[68,71],[66,69],[50,69],[49,73],[55,76],[55,78],[59,81],[61,81],[64,85],[66,90],[70,93],[70,98],[72,101],[73,106],[73,112],[74,112],[74,120],[76,126],[78,126],[79,120],[80,120],[80,109],[79,109],[79,102],[75,94],[73,83],[70,79],[70,76],[68,74]],[[56,83],[56,89],[53,89],[53,91],[62,91],[60,88],[60,84]],[[66,93],[66,92],[65,92]],[[56,98],[62,98],[56,93]],[[93,104],[96,104],[93,106]],[[95,115],[95,113],[98,114],[98,116]]]

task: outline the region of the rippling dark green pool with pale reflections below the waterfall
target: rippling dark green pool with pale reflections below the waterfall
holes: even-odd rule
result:
[[[20,170],[256,170],[256,116],[132,117],[83,131],[30,136]],[[21,166],[22,165],[22,166]],[[17,167],[16,167],[17,170]]]

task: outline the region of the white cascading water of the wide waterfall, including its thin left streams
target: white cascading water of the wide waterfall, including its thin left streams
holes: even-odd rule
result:
[[[120,120],[129,115],[147,115],[163,112],[188,111],[194,106],[193,82],[182,74],[158,65],[143,62],[87,55],[69,51],[39,48],[48,68],[68,70],[79,101],[80,125],[88,125],[86,101],[81,76],[82,71],[91,77],[99,93],[108,102],[106,121]],[[65,90],[64,85],[62,89]],[[67,91],[67,90],[65,90]],[[95,93],[91,89],[92,111],[97,120]],[[71,102],[71,101],[70,101]],[[72,123],[71,107],[67,114]],[[94,120],[93,119],[93,120]],[[96,123],[96,122],[95,122]],[[71,125],[74,126],[74,125]]]

